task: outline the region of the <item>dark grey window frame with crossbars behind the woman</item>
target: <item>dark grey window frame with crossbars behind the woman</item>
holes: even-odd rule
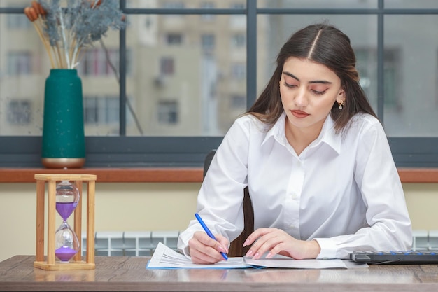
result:
[[[383,17],[390,14],[438,15],[438,9],[384,8],[257,8],[257,1],[247,0],[246,8],[127,8],[120,0],[120,9],[130,14],[211,14],[246,15],[246,94],[247,108],[257,95],[257,15],[262,14],[356,14],[377,16],[377,92],[376,113],[384,125],[383,106]],[[0,7],[0,13],[22,13],[23,8]],[[120,60],[127,53],[126,33],[120,31]],[[118,137],[85,137],[85,167],[201,167],[211,149],[222,137],[128,137],[125,62],[120,62],[120,130]],[[438,167],[438,137],[388,137],[397,167]],[[41,137],[0,136],[0,167],[41,167]]]

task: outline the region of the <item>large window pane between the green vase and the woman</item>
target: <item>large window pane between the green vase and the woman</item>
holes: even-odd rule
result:
[[[237,4],[227,2],[227,8]],[[246,110],[244,103],[234,108],[232,102],[236,95],[246,96],[246,44],[241,40],[246,21],[236,25],[236,15],[216,15],[209,22],[199,15],[180,16],[178,24],[164,15],[129,18],[127,48],[136,56],[136,74],[127,76],[127,95],[136,104],[129,114],[138,120],[127,125],[129,136],[223,135]],[[169,35],[183,41],[178,46],[160,41]],[[236,36],[239,48],[230,46]]]

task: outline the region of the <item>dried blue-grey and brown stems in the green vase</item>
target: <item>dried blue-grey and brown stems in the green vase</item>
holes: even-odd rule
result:
[[[24,8],[50,57],[52,68],[73,69],[82,48],[106,36],[108,29],[125,29],[125,15],[116,0],[34,0]]]

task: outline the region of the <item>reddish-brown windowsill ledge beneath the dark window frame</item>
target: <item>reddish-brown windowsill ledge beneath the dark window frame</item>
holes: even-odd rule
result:
[[[399,168],[402,183],[438,183],[438,168]],[[0,183],[34,183],[35,174],[96,174],[98,183],[200,183],[201,167],[0,168]]]

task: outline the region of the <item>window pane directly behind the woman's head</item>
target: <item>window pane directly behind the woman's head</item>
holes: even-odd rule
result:
[[[358,59],[361,84],[377,111],[377,30],[375,15],[259,15],[257,32],[257,91],[262,92],[276,67],[276,55],[292,32],[309,23],[327,20],[345,32]],[[354,23],[355,25],[351,25]],[[262,55],[267,55],[266,61]],[[396,66],[394,64],[393,66]]]

